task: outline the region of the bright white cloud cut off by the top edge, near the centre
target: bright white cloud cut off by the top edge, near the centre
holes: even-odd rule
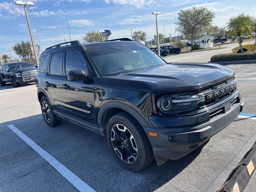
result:
[[[143,6],[149,6],[154,3],[154,0],[104,0],[106,3],[114,3],[118,5],[130,5],[137,8],[142,8]]]

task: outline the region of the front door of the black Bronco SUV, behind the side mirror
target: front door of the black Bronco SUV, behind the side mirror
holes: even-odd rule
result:
[[[94,123],[94,78],[69,81],[68,72],[81,69],[88,74],[85,56],[78,50],[66,51],[64,56],[64,76],[60,79],[60,92],[66,113]]]

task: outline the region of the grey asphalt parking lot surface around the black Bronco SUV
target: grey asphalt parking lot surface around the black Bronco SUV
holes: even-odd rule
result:
[[[256,64],[227,66],[237,73],[245,103],[242,116],[184,158],[168,160],[162,166],[154,162],[137,173],[116,162],[106,138],[65,120],[60,126],[48,127],[34,84],[0,87],[0,192],[78,191],[74,184],[84,185],[84,191],[98,192],[218,190],[256,141],[256,118],[251,117],[256,114]],[[22,133],[14,133],[11,124],[28,138],[20,138]],[[30,147],[29,139],[36,143],[30,145],[39,146],[52,158],[46,161]],[[64,174],[73,173],[73,180],[66,180],[63,172],[51,166],[53,161],[63,165],[59,168]]]

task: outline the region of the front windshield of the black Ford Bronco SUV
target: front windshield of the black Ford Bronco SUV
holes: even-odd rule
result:
[[[166,64],[143,45],[95,48],[88,52],[103,76],[124,74]]]

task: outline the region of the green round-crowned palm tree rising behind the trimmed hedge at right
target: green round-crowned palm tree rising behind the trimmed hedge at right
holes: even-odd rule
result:
[[[249,15],[245,15],[244,13],[238,14],[236,17],[231,17],[228,22],[228,32],[235,32],[238,36],[238,43],[240,46],[240,50],[244,53],[241,42],[241,35],[248,32],[250,30],[251,20]]]

